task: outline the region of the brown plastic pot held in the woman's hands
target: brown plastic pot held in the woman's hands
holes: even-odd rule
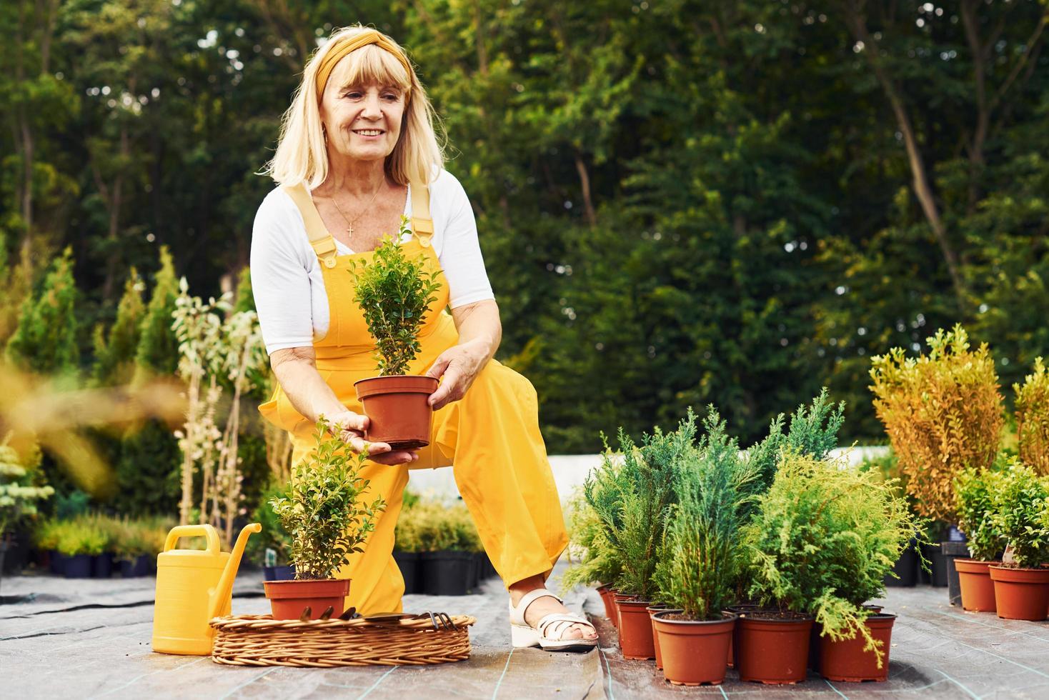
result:
[[[368,417],[365,439],[386,442],[392,450],[419,450],[430,444],[433,410],[427,399],[437,390],[434,377],[397,374],[354,382]]]

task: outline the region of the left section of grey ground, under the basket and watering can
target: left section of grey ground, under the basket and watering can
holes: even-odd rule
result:
[[[470,658],[441,666],[238,668],[150,650],[155,579],[5,578],[0,606],[3,697],[53,698],[520,698],[601,697],[597,654],[511,651],[506,591],[488,581],[474,595],[406,595],[406,610],[473,615]],[[566,598],[582,612],[586,592]],[[237,614],[263,614],[261,573],[242,571]],[[9,695],[8,695],[9,693]]]

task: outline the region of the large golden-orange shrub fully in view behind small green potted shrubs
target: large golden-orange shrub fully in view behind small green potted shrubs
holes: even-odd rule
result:
[[[885,425],[918,511],[955,520],[954,480],[994,460],[1004,422],[994,358],[969,348],[960,325],[928,338],[929,352],[903,348],[872,359],[874,409]]]

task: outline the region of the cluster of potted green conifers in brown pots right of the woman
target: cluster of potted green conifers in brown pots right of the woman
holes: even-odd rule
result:
[[[676,684],[884,680],[892,625],[868,601],[926,523],[876,471],[829,457],[843,407],[826,392],[746,453],[711,409],[640,445],[620,431],[571,512],[578,563],[603,582],[623,656]],[[810,643],[813,654],[810,661]]]

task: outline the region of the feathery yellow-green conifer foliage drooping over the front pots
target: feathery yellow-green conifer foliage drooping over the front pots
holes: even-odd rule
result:
[[[744,528],[751,596],[782,611],[815,616],[832,639],[861,634],[866,651],[884,651],[863,625],[862,604],[926,523],[890,483],[871,471],[786,453],[772,487]]]

